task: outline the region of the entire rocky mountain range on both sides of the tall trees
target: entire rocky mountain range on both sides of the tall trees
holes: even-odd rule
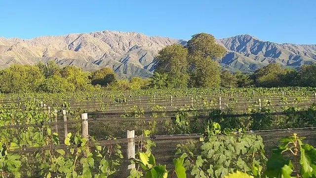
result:
[[[277,44],[250,35],[218,39],[227,53],[220,60],[223,68],[251,72],[271,62],[298,68],[316,61],[316,45]],[[30,40],[0,37],[0,69],[11,64],[31,64],[53,60],[65,67],[75,65],[84,71],[111,67],[118,76],[149,77],[155,57],[166,45],[186,41],[149,37],[136,32],[92,32],[65,36],[45,36]]]

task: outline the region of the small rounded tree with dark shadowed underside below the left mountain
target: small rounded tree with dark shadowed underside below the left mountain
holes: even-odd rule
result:
[[[91,75],[92,85],[107,86],[116,81],[116,74],[110,67],[104,67],[101,70],[94,71]]]

